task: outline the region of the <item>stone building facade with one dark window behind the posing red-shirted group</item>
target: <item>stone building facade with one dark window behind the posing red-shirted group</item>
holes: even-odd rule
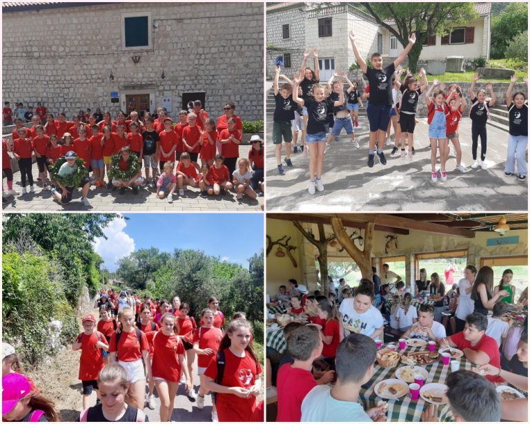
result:
[[[263,3],[2,3],[3,101],[52,112],[232,99],[263,119]]]

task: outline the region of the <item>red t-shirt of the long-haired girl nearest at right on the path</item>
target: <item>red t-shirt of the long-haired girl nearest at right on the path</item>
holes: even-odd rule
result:
[[[259,378],[262,367],[245,351],[245,357],[235,356],[229,348],[224,349],[225,365],[221,385],[226,387],[251,387]],[[210,361],[204,375],[217,377],[217,360]],[[256,396],[240,398],[235,394],[217,393],[217,415],[219,421],[249,421],[255,409]]]

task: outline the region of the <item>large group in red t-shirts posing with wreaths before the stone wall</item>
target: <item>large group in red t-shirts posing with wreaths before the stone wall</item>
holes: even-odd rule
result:
[[[183,196],[188,186],[199,187],[202,197],[234,189],[237,199],[244,195],[255,199],[264,191],[263,140],[253,135],[248,158],[238,160],[242,123],[233,114],[234,108],[233,102],[227,102],[225,115],[219,117],[217,124],[208,118],[200,101],[195,101],[191,112],[181,110],[179,122],[173,122],[164,108],[159,108],[157,119],[145,113],[143,122],[135,111],[128,119],[120,111],[117,120],[112,121],[108,110],[102,114],[101,122],[96,122],[95,115],[91,115],[86,124],[78,116],[68,121],[64,113],[57,120],[48,113],[45,125],[35,115],[31,128],[24,128],[23,122],[15,119],[12,144],[2,140],[2,168],[8,180],[8,190],[3,195],[18,194],[13,189],[10,155],[18,161],[22,194],[26,194],[27,185],[30,193],[35,193],[34,157],[42,189],[46,191],[57,186],[56,181],[52,181],[52,186],[46,184],[48,166],[74,152],[75,156],[70,153],[70,157],[81,157],[85,168],[92,172],[90,182],[96,188],[106,186],[125,193],[131,187],[137,194],[139,187],[152,184],[157,197],[169,203],[173,202],[174,193],[178,191]],[[141,175],[142,162],[145,178]],[[116,171],[121,177],[112,176]],[[106,174],[107,182],[104,181]],[[57,200],[66,203],[64,190],[61,188],[59,192]],[[4,196],[3,201],[6,202]],[[88,206],[86,193],[81,201]]]

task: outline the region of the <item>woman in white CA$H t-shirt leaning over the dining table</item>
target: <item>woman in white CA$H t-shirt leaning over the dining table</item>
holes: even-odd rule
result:
[[[357,287],[355,297],[342,301],[339,309],[342,316],[340,340],[351,332],[374,339],[382,336],[384,320],[381,312],[372,306],[374,297],[373,282],[363,278]]]

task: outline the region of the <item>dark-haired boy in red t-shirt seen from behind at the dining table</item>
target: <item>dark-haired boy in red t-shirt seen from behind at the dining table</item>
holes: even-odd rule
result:
[[[278,414],[276,421],[300,422],[302,401],[317,385],[311,369],[313,360],[322,354],[322,339],[311,325],[295,329],[287,340],[287,350],[293,363],[280,367],[277,376]]]

